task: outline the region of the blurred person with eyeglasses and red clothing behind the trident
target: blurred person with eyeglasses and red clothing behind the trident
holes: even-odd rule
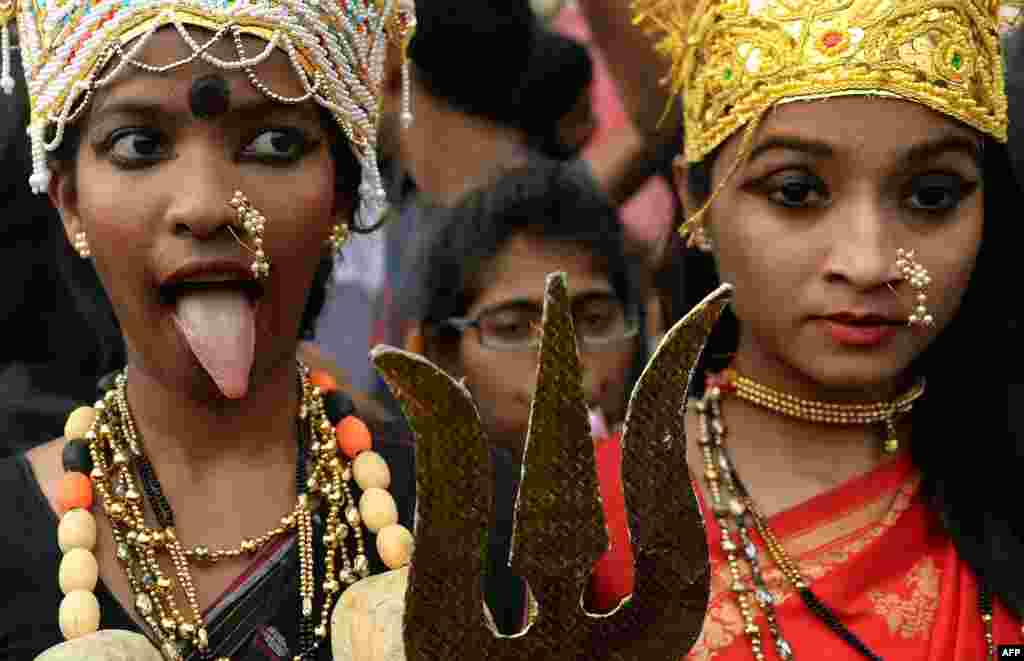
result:
[[[632,588],[620,440],[646,357],[637,265],[626,256],[615,208],[570,165],[535,159],[439,213],[414,262],[417,284],[403,292],[417,319],[407,349],[465,380],[488,440],[513,464],[522,458],[529,421],[546,276],[567,275],[611,532],[589,597],[608,608]],[[508,558],[511,502],[496,514],[492,573]],[[514,577],[503,580],[495,601],[515,623],[521,590]]]

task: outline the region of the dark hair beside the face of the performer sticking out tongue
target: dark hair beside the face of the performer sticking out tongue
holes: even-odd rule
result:
[[[321,107],[321,118],[329,133],[331,156],[335,160],[335,185],[339,193],[351,195],[358,201],[358,185],[361,168],[348,146],[348,140],[342,133],[337,121],[327,109]],[[47,137],[52,139],[52,134]],[[74,172],[74,163],[78,158],[81,144],[81,126],[69,125],[65,129],[60,145],[50,156],[50,162],[56,167],[67,168]],[[351,227],[354,220],[349,221]],[[63,235],[63,232],[58,232]],[[71,294],[75,307],[85,319],[83,329],[83,346],[88,347],[81,356],[79,365],[81,371],[94,373],[97,378],[120,369],[127,362],[124,339],[121,326],[114,313],[114,306],[99,281],[99,276],[92,264],[82,260],[72,250],[67,237],[56,237],[53,241],[54,260],[60,279]],[[333,260],[325,257],[321,260],[313,281],[310,285],[305,310],[303,311],[299,337],[311,339],[319,316],[327,301],[328,284],[333,272]],[[91,336],[86,333],[91,332]]]

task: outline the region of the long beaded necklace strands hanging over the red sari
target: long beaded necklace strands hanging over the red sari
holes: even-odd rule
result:
[[[865,659],[882,661],[882,657],[874,654],[853,631],[847,628],[839,616],[814,593],[796,562],[785,552],[768,526],[767,517],[754,502],[746,487],[740,481],[739,474],[736,472],[735,465],[732,462],[725,445],[726,429],[721,409],[721,398],[725,393],[738,394],[737,390],[730,391],[722,387],[723,384],[729,383],[732,379],[734,379],[733,374],[709,374],[705,395],[695,402],[694,406],[700,420],[700,437],[697,444],[703,458],[703,478],[708,490],[711,492],[712,512],[722,533],[721,548],[729,563],[732,578],[730,591],[738,603],[743,618],[743,632],[751,642],[755,659],[765,661],[764,645],[771,644],[768,641],[768,635],[773,641],[779,659],[792,661],[796,657],[778,621],[775,598],[765,582],[758,546],[751,534],[752,528],[757,530],[772,562],[800,596],[808,610]],[[749,581],[744,581],[740,574],[740,559],[750,567]],[[760,607],[765,614],[768,635],[764,635],[762,628],[755,621],[756,607]],[[978,611],[985,627],[985,659],[986,661],[995,661],[992,601],[986,586],[980,579]],[[1022,628],[1022,633],[1024,633],[1024,628]]]

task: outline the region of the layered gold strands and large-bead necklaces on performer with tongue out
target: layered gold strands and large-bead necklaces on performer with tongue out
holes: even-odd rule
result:
[[[314,380],[319,385],[314,385]],[[190,563],[209,565],[227,558],[252,557],[272,540],[296,530],[300,609],[299,641],[293,661],[308,661],[315,658],[327,637],[331,607],[341,589],[370,574],[364,527],[379,533],[377,548],[390,569],[409,562],[412,535],[397,523],[397,508],[386,491],[390,472],[384,458],[370,449],[370,432],[352,415],[351,401],[337,391],[329,377],[311,376],[302,364],[298,381],[302,401],[296,421],[296,505],[282,518],[280,526],[259,537],[244,539],[232,548],[186,548],[178,539],[174,513],[128,408],[124,372],[93,407],[72,413],[65,431],[69,440],[63,450],[62,516],[57,530],[65,553],[59,582],[66,594],[58,618],[66,638],[91,633],[99,625],[99,605],[92,593],[98,577],[98,565],[92,556],[96,525],[89,512],[93,489],[110,519],[117,558],[135,597],[135,611],[169,661],[184,659],[194,650],[199,650],[203,658],[211,658]],[[141,491],[136,486],[136,473]],[[362,490],[358,501],[352,495],[353,479]],[[156,528],[146,525],[143,494],[153,509]],[[317,511],[326,521],[318,623],[312,523]],[[165,554],[169,572],[159,562]],[[171,575],[177,578],[184,605],[179,606],[175,599]],[[229,659],[219,657],[218,661]]]

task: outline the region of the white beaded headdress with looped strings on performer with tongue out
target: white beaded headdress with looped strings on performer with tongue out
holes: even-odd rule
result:
[[[404,53],[416,23],[413,0],[0,0],[0,83],[8,94],[14,87],[12,23],[29,89],[35,192],[48,185],[45,151],[57,148],[68,124],[124,67],[166,72],[200,58],[222,70],[245,70],[275,100],[312,99],[330,111],[362,165],[361,222],[374,224],[383,211],[377,131],[384,61],[389,44]],[[150,37],[166,26],[193,55],[161,67],[140,61]],[[195,35],[195,28],[213,34]],[[258,37],[266,47],[247,53],[242,35]],[[233,40],[238,58],[208,52],[221,39]],[[259,80],[253,68],[274,48],[288,54],[304,94],[285,97]]]

